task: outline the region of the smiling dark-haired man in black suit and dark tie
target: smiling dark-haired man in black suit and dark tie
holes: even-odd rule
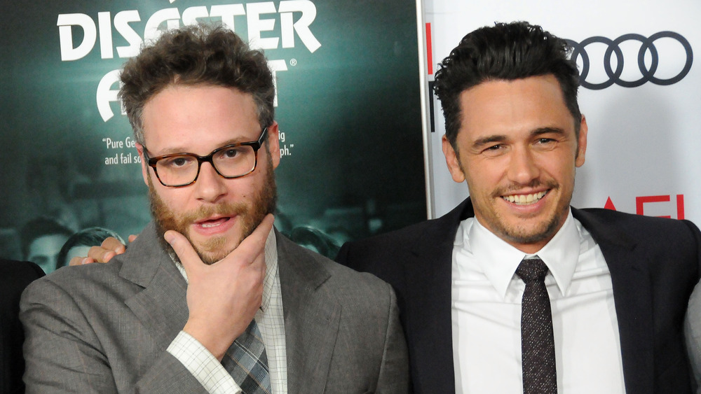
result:
[[[587,122],[565,41],[496,24],[441,65],[443,151],[470,197],[338,259],[395,288],[414,391],[690,393],[682,326],[701,234],[570,207]]]

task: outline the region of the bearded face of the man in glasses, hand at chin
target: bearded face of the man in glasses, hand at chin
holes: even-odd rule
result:
[[[150,157],[207,155],[231,143],[255,141],[262,131],[251,94],[210,85],[167,87],[147,101],[142,119]],[[143,149],[137,145],[159,232],[182,233],[207,264],[233,251],[275,209],[273,169],[280,163],[280,148],[274,122],[255,171],[241,178],[222,178],[204,162],[195,183],[169,188],[144,162]]]

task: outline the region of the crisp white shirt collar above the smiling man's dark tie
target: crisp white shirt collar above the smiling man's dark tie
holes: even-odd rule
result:
[[[475,256],[477,264],[501,297],[505,297],[521,260],[535,255],[550,269],[560,293],[564,294],[569,288],[580,253],[580,232],[571,210],[557,234],[532,255],[519,251],[497,237],[476,218],[468,218],[470,219],[470,225],[461,226],[465,249]]]

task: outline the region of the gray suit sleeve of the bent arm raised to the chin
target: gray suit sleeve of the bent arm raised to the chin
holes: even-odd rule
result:
[[[109,335],[97,333],[74,298],[51,281],[34,282],[25,290],[20,320],[27,393],[205,393],[165,351],[149,370],[125,379],[130,374],[113,370],[104,350]]]

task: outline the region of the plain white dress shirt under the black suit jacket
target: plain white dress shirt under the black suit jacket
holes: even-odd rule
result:
[[[611,274],[601,249],[569,213],[538,253],[550,269],[559,393],[625,393]],[[523,393],[521,300],[515,275],[532,257],[475,218],[453,246],[451,321],[456,393]]]

